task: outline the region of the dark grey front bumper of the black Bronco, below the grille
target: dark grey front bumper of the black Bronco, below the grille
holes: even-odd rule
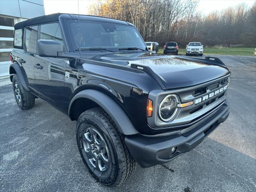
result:
[[[196,122],[191,128],[186,128],[187,132],[180,130],[180,134],[167,136],[135,134],[126,136],[126,145],[141,167],[169,162],[198,146],[220,123],[228,118],[228,109],[229,106],[226,101],[218,110],[209,114],[200,122]],[[177,147],[174,154],[171,153],[173,147]]]

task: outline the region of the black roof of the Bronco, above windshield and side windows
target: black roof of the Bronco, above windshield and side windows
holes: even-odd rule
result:
[[[49,23],[49,22],[57,22],[59,20],[60,15],[66,15],[66,16],[69,15],[70,19],[78,18],[78,14],[54,13],[54,14],[50,14],[50,15],[43,15],[43,16],[35,17],[32,19],[28,19],[26,21],[16,23],[14,25],[14,28],[17,29],[17,28],[22,28],[25,26],[38,25],[38,24],[44,24],[44,23]],[[92,15],[79,15],[79,19],[81,19],[81,20],[90,19],[90,20],[116,22],[116,23],[125,24],[125,25],[132,25],[126,21],[110,19],[110,18],[105,18],[105,17],[100,17],[100,16],[92,16]]]

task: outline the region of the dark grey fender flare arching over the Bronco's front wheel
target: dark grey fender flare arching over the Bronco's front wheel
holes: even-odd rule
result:
[[[78,98],[87,98],[96,102],[112,118],[119,132],[121,132],[122,134],[132,135],[138,133],[128,116],[125,114],[124,110],[122,110],[122,108],[112,98],[98,90],[87,89],[78,92],[72,98],[69,104],[68,116],[70,116],[70,109],[72,107],[72,103]]]

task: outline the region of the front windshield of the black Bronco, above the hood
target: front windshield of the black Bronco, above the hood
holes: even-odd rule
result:
[[[131,51],[120,51],[119,48],[146,49],[143,39],[134,26],[84,20],[80,20],[79,24],[78,20],[68,20],[67,26],[74,50],[79,48],[79,44],[80,48],[108,48],[118,52]],[[141,51],[139,49],[132,51]]]

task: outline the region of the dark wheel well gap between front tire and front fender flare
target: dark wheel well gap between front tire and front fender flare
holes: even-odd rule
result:
[[[87,99],[87,98],[77,98],[72,103],[72,106],[70,108],[70,119],[78,120],[78,117],[80,114],[88,109],[94,108],[94,107],[100,107],[96,102]]]

